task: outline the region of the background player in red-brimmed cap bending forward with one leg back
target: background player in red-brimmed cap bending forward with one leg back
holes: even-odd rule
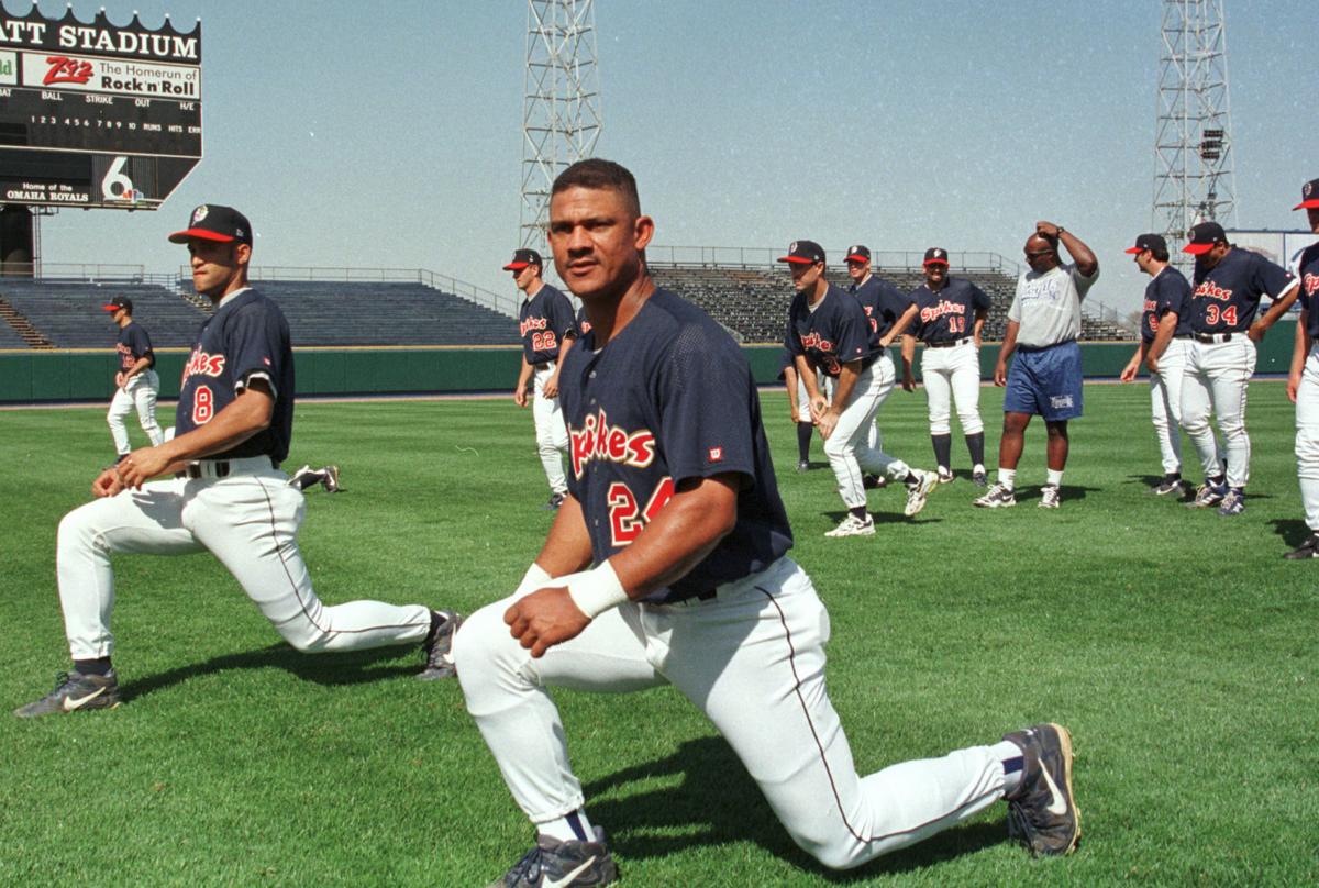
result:
[[[806,383],[811,418],[824,439],[824,455],[847,507],[843,521],[824,536],[872,536],[874,520],[865,507],[863,470],[906,483],[904,513],[909,517],[925,508],[939,479],[871,446],[871,422],[893,391],[893,359],[861,303],[824,277],[824,251],[814,240],[795,240],[778,261],[789,264],[797,288],[783,344]],[[901,333],[894,325],[884,335],[894,330]],[[819,375],[834,379],[832,400],[824,397]]]

